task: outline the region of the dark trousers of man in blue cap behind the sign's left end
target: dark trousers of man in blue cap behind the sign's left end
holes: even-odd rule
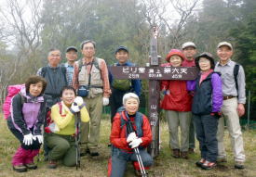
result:
[[[128,91],[121,91],[112,88],[112,95],[110,96],[110,108],[111,108],[111,123],[115,117],[115,113],[119,107],[123,106],[123,96],[128,93]]]

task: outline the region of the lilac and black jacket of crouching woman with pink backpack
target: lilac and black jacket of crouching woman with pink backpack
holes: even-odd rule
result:
[[[21,96],[24,103],[21,102]],[[41,126],[46,118],[46,102],[42,95],[31,96],[26,94],[26,89],[22,88],[20,94],[15,95],[11,101],[8,127],[17,129],[20,133],[42,134]]]

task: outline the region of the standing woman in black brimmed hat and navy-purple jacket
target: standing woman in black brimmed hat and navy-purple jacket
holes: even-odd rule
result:
[[[214,60],[209,53],[195,57],[200,74],[194,82],[188,82],[189,91],[195,90],[192,113],[196,138],[199,141],[201,159],[195,164],[204,170],[216,166],[218,142],[216,138],[218,120],[222,108],[222,79],[214,72]]]

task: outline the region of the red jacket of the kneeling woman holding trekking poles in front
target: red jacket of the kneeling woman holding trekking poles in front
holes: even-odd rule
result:
[[[134,121],[134,117],[129,118],[131,121]],[[133,125],[133,129],[136,130],[136,126]],[[149,121],[145,115],[142,116],[142,143],[140,146],[146,147],[152,142],[152,133]],[[112,124],[112,130],[110,135],[110,142],[112,145],[115,145],[117,148],[125,149],[127,151],[132,151],[132,148],[128,147],[127,143],[127,126],[126,124],[121,127],[121,115],[116,113],[114,121]]]

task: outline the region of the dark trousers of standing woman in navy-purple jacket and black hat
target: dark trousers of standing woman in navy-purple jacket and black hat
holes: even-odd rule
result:
[[[196,138],[199,141],[201,158],[215,162],[218,156],[218,118],[211,115],[193,114]]]

